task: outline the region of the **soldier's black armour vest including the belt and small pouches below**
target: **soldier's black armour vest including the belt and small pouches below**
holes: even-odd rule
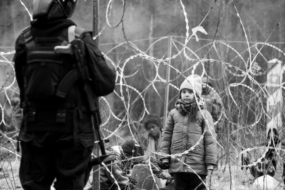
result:
[[[76,67],[76,58],[58,54],[54,49],[79,37],[84,30],[76,28],[65,28],[57,37],[33,37],[30,26],[22,32],[27,47],[27,64],[23,69],[25,131],[72,132],[77,115],[83,118],[82,113],[87,111],[82,107],[84,93],[79,81],[70,85],[64,98],[56,96],[61,80]]]

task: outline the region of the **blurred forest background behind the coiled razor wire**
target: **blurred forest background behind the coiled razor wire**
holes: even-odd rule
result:
[[[31,13],[30,0],[0,1],[2,126],[12,124],[9,99],[19,92],[13,63],[9,61],[13,58],[16,38],[31,20],[23,4]],[[266,97],[270,91],[266,91],[266,84],[270,80],[267,74],[276,65],[268,61],[274,58],[282,62],[278,75],[281,81],[275,88],[284,91],[284,6],[282,0],[101,0],[100,50],[108,57],[108,64],[117,70],[114,93],[100,100],[103,137],[117,144],[136,132],[143,132],[141,123],[146,115],[164,118],[167,85],[169,112],[180,84],[194,72],[208,76],[222,103],[221,166],[240,167],[241,151],[246,148],[253,148],[255,159],[260,158],[266,126],[272,119],[272,113],[267,111]],[[72,20],[92,31],[92,1],[78,1]],[[207,32],[197,31],[199,41],[191,30],[197,26]],[[169,39],[172,39],[171,56]],[[284,139],[283,102],[282,99],[273,104],[281,114],[273,127]],[[7,135],[5,129],[9,127],[1,128],[1,160],[6,159],[7,153],[9,156],[16,153],[12,139],[17,130]]]

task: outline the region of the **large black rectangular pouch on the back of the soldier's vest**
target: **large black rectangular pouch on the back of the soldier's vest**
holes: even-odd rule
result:
[[[63,58],[53,51],[28,52],[25,96],[29,100],[53,97],[64,74]]]

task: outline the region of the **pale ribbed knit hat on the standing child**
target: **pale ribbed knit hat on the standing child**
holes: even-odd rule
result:
[[[201,97],[201,93],[202,93],[202,78],[199,75],[190,75],[188,76],[183,83],[181,84],[180,88],[179,88],[179,94],[181,93],[181,91],[184,88],[193,90],[192,85],[189,83],[189,81],[191,82],[191,84],[194,86],[194,89],[196,91],[196,93]],[[193,90],[194,91],[194,90]]]

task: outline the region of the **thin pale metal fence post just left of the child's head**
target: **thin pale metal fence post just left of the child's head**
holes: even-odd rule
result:
[[[171,57],[171,49],[172,49],[172,36],[168,36],[168,52],[167,57]],[[168,59],[167,62],[171,65],[171,59]],[[167,115],[168,115],[168,97],[169,97],[169,79],[170,79],[170,68],[167,66],[166,68],[166,87],[165,87],[165,95],[164,95],[164,124],[166,123]]]

